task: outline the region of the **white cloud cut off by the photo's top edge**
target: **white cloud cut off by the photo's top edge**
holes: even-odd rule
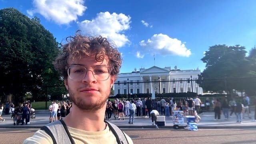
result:
[[[34,9],[27,10],[30,16],[41,14],[56,24],[69,24],[82,16],[87,9],[84,0],[34,0]]]

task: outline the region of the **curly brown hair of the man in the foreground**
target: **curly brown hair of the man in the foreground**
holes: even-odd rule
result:
[[[117,75],[120,71],[122,59],[116,45],[111,40],[107,40],[102,36],[83,36],[80,30],[76,32],[74,37],[66,38],[67,44],[64,44],[62,53],[56,58],[54,64],[55,69],[64,79],[68,78],[65,66],[74,58],[84,58],[95,55],[97,62],[108,60],[110,67],[110,75]]]

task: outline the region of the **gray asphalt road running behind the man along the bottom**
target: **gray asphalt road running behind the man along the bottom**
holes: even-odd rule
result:
[[[0,144],[22,144],[38,129],[0,128]],[[256,144],[256,129],[122,129],[134,144]]]

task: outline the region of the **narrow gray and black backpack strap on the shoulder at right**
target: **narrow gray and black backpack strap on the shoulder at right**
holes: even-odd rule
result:
[[[104,120],[104,122],[106,122],[106,124],[108,124],[108,127],[110,128],[110,130],[116,137],[116,142],[118,144],[128,144],[128,140],[127,140],[124,132],[120,128],[118,128],[116,125],[114,125],[111,122],[108,122],[106,120]]]

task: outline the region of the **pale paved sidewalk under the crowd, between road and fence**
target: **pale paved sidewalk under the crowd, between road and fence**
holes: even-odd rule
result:
[[[217,128],[256,128],[256,122],[253,122],[254,111],[251,111],[250,116],[252,119],[249,119],[247,116],[243,119],[243,124],[236,123],[236,116],[233,114],[233,118],[229,120],[224,120],[224,115],[221,115],[220,121],[214,120],[214,112],[204,112],[201,117],[201,121],[198,123],[198,128],[207,128],[207,129],[217,129]],[[13,125],[13,119],[10,115],[2,115],[2,118],[5,119],[5,122],[0,121],[0,128],[41,128],[42,126],[49,123],[49,112],[48,110],[38,110],[36,111],[36,119],[30,119],[30,124],[28,125]],[[108,120],[116,124],[120,128],[154,128],[152,126],[151,118],[142,118],[142,116],[134,118],[134,124],[128,124],[129,117],[125,117],[125,120],[115,120],[112,116],[112,120]],[[186,124],[186,120],[185,120]],[[159,128],[173,128],[172,117],[166,117],[166,125],[160,126]]]

